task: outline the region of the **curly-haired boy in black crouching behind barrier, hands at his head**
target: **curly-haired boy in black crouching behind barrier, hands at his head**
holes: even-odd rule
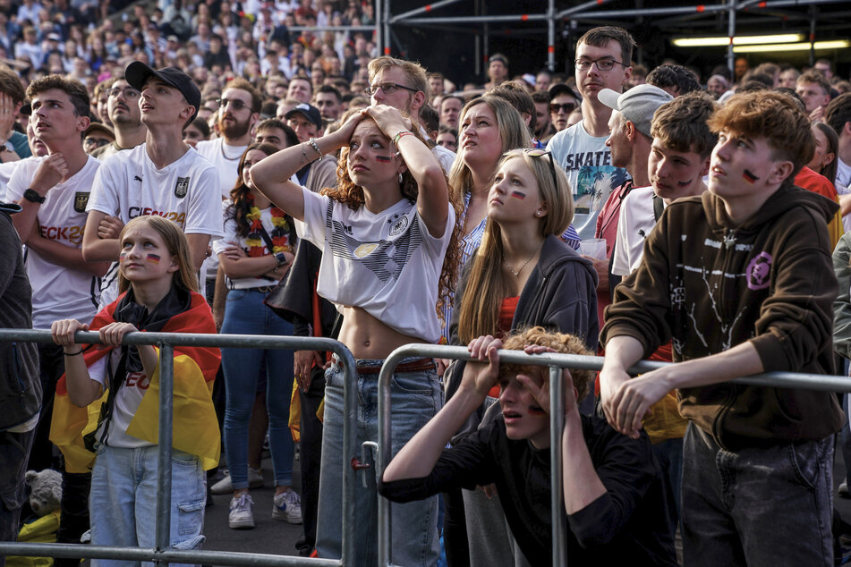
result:
[[[581,339],[537,326],[469,345],[458,392],[387,466],[379,492],[411,502],[449,489],[496,484],[506,519],[533,565],[552,561],[549,504],[549,368],[499,364],[498,349],[528,354],[592,354]],[[564,370],[562,435],[566,545],[571,565],[676,565],[661,473],[645,433],[622,436],[605,420],[580,414],[593,373]],[[500,385],[501,410],[478,431],[446,449],[451,436]]]

